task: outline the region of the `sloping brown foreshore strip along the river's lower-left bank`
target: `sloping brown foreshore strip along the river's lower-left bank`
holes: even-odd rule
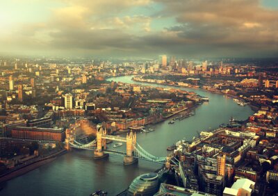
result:
[[[20,168],[16,168],[15,170],[10,170],[0,176],[0,183],[3,183],[4,181],[8,181],[15,177],[19,177],[20,175],[24,175],[27,172],[30,172],[31,170],[35,170],[36,168],[39,168],[40,166],[44,166],[45,164],[50,163],[51,161],[54,161],[58,156],[65,154],[66,152],[67,152],[67,150],[65,150],[65,149],[60,150],[59,152],[51,154],[48,157],[44,157],[44,158],[34,161],[32,163],[28,163],[24,166],[21,166]]]

